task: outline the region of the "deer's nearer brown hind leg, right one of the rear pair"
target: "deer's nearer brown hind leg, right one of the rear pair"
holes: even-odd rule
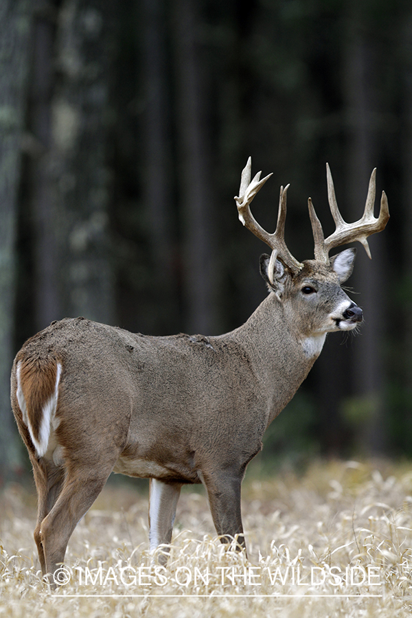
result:
[[[62,564],[73,530],[102,491],[113,466],[111,462],[93,468],[66,468],[67,475],[60,494],[41,522],[38,533],[45,560],[43,573],[53,575],[58,565]],[[53,579],[50,583],[54,587]]]

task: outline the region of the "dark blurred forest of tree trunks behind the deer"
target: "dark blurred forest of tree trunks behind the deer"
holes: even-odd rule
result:
[[[361,333],[328,337],[261,463],[412,457],[409,1],[1,0],[0,132],[0,484],[29,469],[10,409],[27,337],[78,315],[220,334],[264,299],[268,249],[233,201],[249,155],[274,172],[268,231],[291,183],[298,260],[308,196],[333,231],[326,161],[346,220],[374,167],[391,211],[349,282]]]

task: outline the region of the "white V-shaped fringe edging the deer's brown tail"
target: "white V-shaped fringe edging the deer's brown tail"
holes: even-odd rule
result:
[[[58,398],[58,383],[60,382],[60,376],[62,373],[62,366],[60,363],[57,363],[57,371],[56,371],[56,385],[54,386],[54,392],[49,400],[44,404],[42,410],[42,418],[40,423],[40,431],[38,432],[38,439],[34,437],[33,428],[30,424],[30,420],[27,414],[27,405],[25,402],[25,398],[23,395],[23,389],[21,388],[21,379],[20,379],[20,363],[17,365],[16,378],[17,378],[17,401],[19,402],[19,407],[21,412],[23,413],[23,421],[27,425],[27,428],[30,433],[30,437],[34,444],[34,448],[36,448],[36,454],[38,457],[43,457],[47,452],[47,447],[49,446],[49,437],[52,426],[56,428],[58,426],[58,420],[55,419],[56,408],[57,408],[57,398]]]

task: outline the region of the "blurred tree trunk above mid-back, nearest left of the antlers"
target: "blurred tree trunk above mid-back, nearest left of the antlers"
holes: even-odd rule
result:
[[[189,332],[212,334],[214,299],[214,192],[205,127],[205,75],[200,58],[199,3],[174,2],[174,47],[181,201],[184,227],[184,297]]]

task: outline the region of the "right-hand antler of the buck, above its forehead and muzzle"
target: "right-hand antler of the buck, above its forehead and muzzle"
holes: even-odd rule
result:
[[[338,204],[336,202],[336,196],[334,192],[334,185],[332,180],[332,174],[328,163],[326,163],[326,176],[328,179],[328,201],[330,211],[334,219],[336,229],[328,238],[323,236],[323,229],[321,222],[317,218],[314,211],[312,200],[309,198],[308,207],[310,222],[312,223],[312,231],[314,238],[314,258],[329,264],[329,251],[334,247],[339,247],[341,244],[347,244],[348,242],[361,242],[369,258],[371,258],[371,251],[369,244],[367,243],[367,237],[376,232],[385,229],[389,220],[389,207],[387,196],[385,191],[382,191],[382,198],[380,199],[380,211],[379,216],[374,216],[374,204],[376,194],[376,168],[371,173],[371,179],[369,181],[369,188],[367,191],[367,198],[365,203],[365,211],[363,216],[354,223],[347,223],[343,220],[341,213],[339,212]]]

